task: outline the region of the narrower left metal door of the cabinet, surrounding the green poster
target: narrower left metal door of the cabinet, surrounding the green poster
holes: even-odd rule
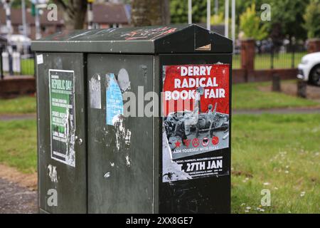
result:
[[[41,54],[41,53],[37,53]],[[43,63],[37,65],[38,99],[38,191],[42,211],[50,213],[87,212],[86,150],[85,150],[85,80],[82,53],[42,53]],[[82,145],[75,144],[75,167],[50,157],[49,69],[75,71],[75,135]],[[51,181],[48,166],[56,167],[57,182]],[[48,190],[57,190],[58,206],[48,206]]]

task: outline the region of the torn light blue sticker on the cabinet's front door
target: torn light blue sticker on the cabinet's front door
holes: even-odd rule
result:
[[[109,86],[106,92],[107,100],[107,125],[113,125],[113,119],[115,116],[122,114],[123,115],[123,102],[122,102],[122,93],[117,83],[114,73],[107,75],[107,78],[110,78]]]

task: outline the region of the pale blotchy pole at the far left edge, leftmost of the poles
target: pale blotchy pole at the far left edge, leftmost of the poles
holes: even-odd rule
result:
[[[6,9],[6,29],[8,33],[6,34],[6,39],[8,41],[7,51],[9,58],[9,74],[14,75],[14,70],[12,66],[12,46],[11,46],[11,35],[12,35],[12,26],[11,26],[11,1],[3,0],[4,9]]]

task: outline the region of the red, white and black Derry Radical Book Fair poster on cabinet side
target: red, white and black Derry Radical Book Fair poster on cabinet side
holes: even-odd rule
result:
[[[214,152],[229,147],[229,64],[164,66],[162,103],[163,182],[222,174]]]

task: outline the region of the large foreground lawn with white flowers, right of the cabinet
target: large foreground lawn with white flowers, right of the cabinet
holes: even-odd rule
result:
[[[232,212],[319,213],[320,114],[234,115]],[[251,207],[251,209],[246,209]]]

